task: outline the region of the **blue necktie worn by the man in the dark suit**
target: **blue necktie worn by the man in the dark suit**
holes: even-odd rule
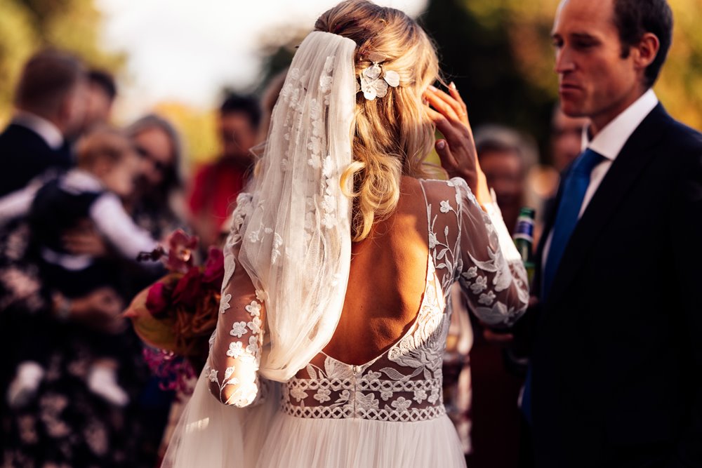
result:
[[[548,258],[543,269],[541,281],[541,301],[543,302],[551,290],[553,279],[560,265],[564,250],[568,245],[571,234],[578,224],[581,206],[585,192],[590,185],[590,173],[597,164],[604,161],[602,154],[597,154],[592,149],[585,149],[583,154],[573,163],[564,185],[561,202],[556,213],[556,220],[553,225],[553,236],[551,246],[548,250]],[[524,394],[522,394],[522,413],[531,424],[531,366],[527,369],[527,380],[524,382]]]

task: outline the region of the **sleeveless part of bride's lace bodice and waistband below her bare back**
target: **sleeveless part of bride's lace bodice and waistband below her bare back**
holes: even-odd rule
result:
[[[282,410],[297,417],[418,421],[444,414],[442,356],[449,317],[428,257],[424,297],[409,330],[361,366],[319,353],[284,383]]]

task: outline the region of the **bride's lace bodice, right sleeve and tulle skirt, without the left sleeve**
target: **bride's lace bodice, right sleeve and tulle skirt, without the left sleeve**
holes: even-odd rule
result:
[[[285,382],[259,466],[461,467],[465,463],[442,401],[451,283],[461,281],[472,307],[489,323],[514,321],[528,297],[518,255],[512,255],[512,262],[504,260],[494,232],[476,239],[470,224],[483,222],[483,217],[465,182],[423,182],[426,192],[442,185],[456,185],[456,194],[427,201],[426,286],[411,328],[388,351],[360,366],[320,352]]]

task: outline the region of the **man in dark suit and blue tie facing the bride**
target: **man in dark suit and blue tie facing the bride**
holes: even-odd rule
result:
[[[523,409],[536,467],[702,467],[702,135],[651,90],[665,0],[563,0],[563,112],[589,117],[538,248]]]

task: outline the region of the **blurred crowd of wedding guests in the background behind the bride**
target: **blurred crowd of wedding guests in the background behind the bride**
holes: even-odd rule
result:
[[[185,177],[183,143],[163,116],[113,125],[119,94],[109,73],[56,50],[28,60],[0,134],[1,466],[156,466],[179,401],[151,375],[121,316],[165,273],[136,259],[178,228],[197,234],[203,250],[221,242],[283,80],[260,100],[228,95],[218,110],[219,154]],[[539,235],[539,215],[559,171],[580,153],[585,123],[554,109],[543,158],[515,129],[475,129],[508,227],[531,206]],[[500,446],[519,445],[524,363],[469,319],[460,292],[453,302],[447,410],[469,466],[515,467],[516,450]]]

